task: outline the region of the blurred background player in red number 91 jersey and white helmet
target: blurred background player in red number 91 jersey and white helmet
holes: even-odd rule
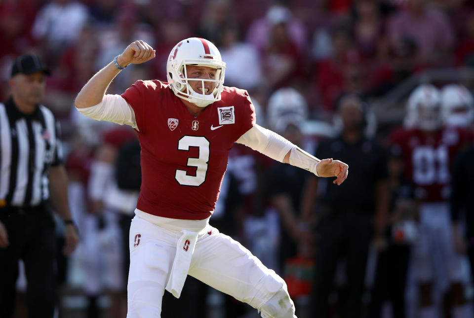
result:
[[[472,135],[459,127],[443,127],[441,95],[431,84],[411,93],[404,124],[393,132],[392,141],[403,157],[405,175],[419,202],[419,237],[413,260],[420,317],[438,317],[432,300],[434,283],[441,289],[450,286],[454,318],[472,317],[464,297],[462,258],[453,248],[448,206],[451,164]]]

